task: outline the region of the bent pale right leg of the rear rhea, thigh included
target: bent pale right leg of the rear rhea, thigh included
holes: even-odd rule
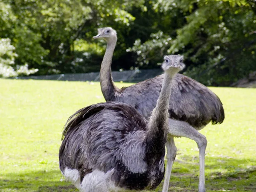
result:
[[[199,148],[199,185],[198,191],[205,192],[205,180],[204,180],[204,156],[207,146],[207,139],[204,135],[199,133],[195,128],[186,122],[169,119],[169,133],[177,137],[187,137],[194,140]]]

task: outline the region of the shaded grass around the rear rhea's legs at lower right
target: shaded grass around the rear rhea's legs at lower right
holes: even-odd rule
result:
[[[198,157],[182,156],[180,159],[174,163],[169,191],[198,191]],[[230,157],[206,157],[206,159],[205,184],[207,191],[256,192],[256,164],[254,159],[233,159]],[[253,163],[255,166],[251,166]]]

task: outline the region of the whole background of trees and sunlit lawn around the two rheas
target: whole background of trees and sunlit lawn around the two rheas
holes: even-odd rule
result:
[[[76,190],[58,150],[68,117],[105,102],[99,82],[71,82],[99,81],[106,43],[92,37],[105,26],[117,31],[119,88],[163,73],[163,55],[184,55],[182,73],[224,105],[224,122],[201,131],[207,192],[255,192],[256,89],[233,87],[256,87],[256,0],[0,0],[0,192]],[[198,146],[175,143],[170,191],[197,192]]]

